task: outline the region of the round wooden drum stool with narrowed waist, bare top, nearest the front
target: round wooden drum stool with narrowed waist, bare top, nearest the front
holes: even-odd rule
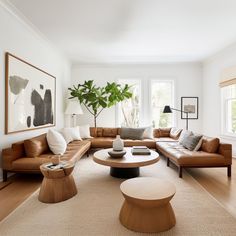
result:
[[[120,185],[125,198],[120,222],[126,228],[143,233],[158,233],[172,228],[175,214],[170,205],[175,186],[152,177],[139,177]]]

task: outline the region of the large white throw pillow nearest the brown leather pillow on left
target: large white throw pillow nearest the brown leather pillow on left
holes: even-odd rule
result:
[[[49,129],[47,132],[47,141],[50,150],[56,155],[62,155],[66,151],[66,141],[63,136],[52,129]]]

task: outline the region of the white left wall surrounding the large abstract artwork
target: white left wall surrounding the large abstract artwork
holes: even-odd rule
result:
[[[4,134],[5,52],[10,52],[56,76],[56,127],[64,126],[65,91],[70,83],[70,64],[59,52],[0,3],[0,150],[11,143],[45,133],[47,129]],[[0,157],[1,161],[1,157]],[[0,169],[1,172],[1,169]],[[0,173],[1,174],[1,173]],[[1,175],[2,176],[2,175]],[[0,179],[1,179],[0,176]]]

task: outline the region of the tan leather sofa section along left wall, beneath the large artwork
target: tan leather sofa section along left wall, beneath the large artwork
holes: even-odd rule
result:
[[[31,142],[31,146],[29,142]],[[61,160],[76,162],[85,153],[88,153],[90,147],[90,140],[73,141],[67,145],[66,152],[61,157]],[[38,151],[42,153],[34,156],[33,154]],[[6,148],[2,151],[3,181],[7,180],[8,172],[40,173],[40,165],[50,162],[53,156],[55,155],[47,146],[46,134],[25,140],[25,142],[13,143],[11,148]]]

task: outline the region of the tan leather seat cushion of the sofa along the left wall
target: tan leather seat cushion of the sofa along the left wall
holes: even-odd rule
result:
[[[81,156],[89,150],[91,142],[85,141],[73,141],[67,145],[66,152],[62,155],[62,161],[78,161]],[[12,163],[12,170],[30,170],[30,171],[40,171],[40,165],[50,162],[51,158],[55,155],[51,152],[40,155],[36,158],[22,157]]]

